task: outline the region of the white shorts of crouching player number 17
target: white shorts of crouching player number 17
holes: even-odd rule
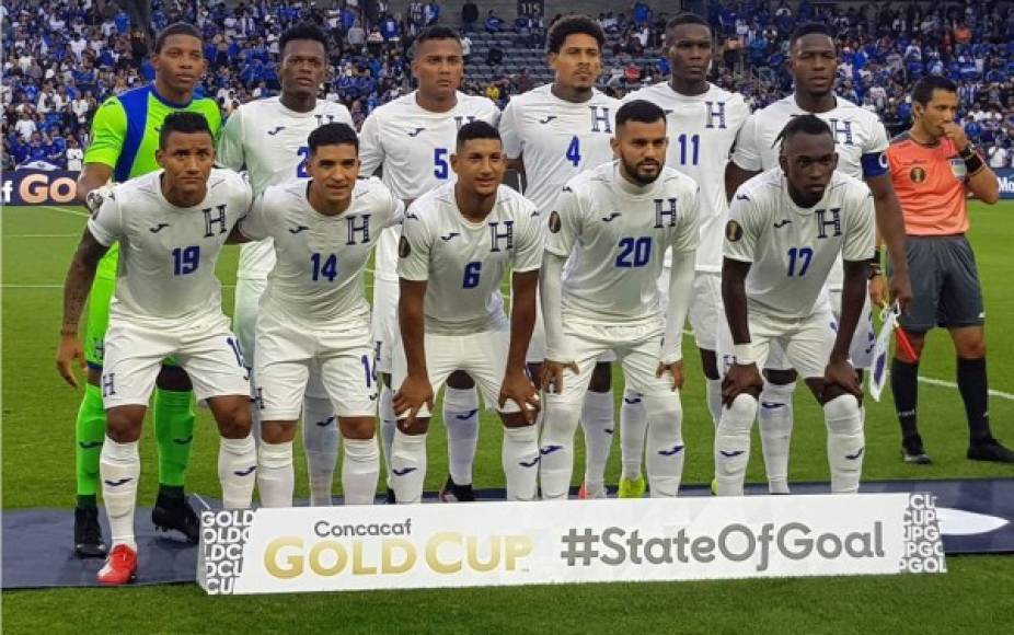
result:
[[[787,367],[796,369],[803,379],[823,377],[823,369],[834,348],[837,324],[827,302],[818,302],[814,313],[799,320],[773,318],[751,311],[748,322],[750,356],[757,360],[758,368],[771,368],[771,354],[777,349],[784,351]],[[728,322],[723,322],[718,336],[718,359],[722,361],[718,370],[723,374],[735,363],[733,350]]]

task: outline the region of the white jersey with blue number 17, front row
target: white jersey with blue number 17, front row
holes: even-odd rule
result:
[[[873,194],[862,181],[834,172],[820,201],[804,209],[775,169],[736,190],[724,253],[752,263],[747,275],[751,309],[799,320],[814,313],[839,254],[846,261],[873,257],[874,224]]]

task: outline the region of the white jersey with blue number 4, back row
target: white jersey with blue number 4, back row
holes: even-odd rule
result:
[[[525,161],[525,196],[549,213],[564,183],[612,160],[620,102],[595,91],[576,104],[545,84],[512,97],[500,118],[504,152]]]

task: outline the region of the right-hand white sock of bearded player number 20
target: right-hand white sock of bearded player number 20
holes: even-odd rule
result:
[[[648,418],[644,462],[652,498],[671,498],[679,494],[687,457],[680,397],[678,393],[644,395],[642,403]]]

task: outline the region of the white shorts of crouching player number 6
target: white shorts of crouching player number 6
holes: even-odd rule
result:
[[[424,336],[426,348],[426,372],[433,386],[434,396],[450,373],[463,370],[475,380],[486,408],[496,408],[500,413],[519,413],[521,406],[508,401],[502,408],[497,401],[500,396],[500,383],[507,367],[507,353],[510,348],[509,331],[483,331],[464,335]],[[394,390],[397,391],[408,374],[408,363],[404,348],[394,351]],[[429,408],[423,404],[419,417],[430,416]]]

